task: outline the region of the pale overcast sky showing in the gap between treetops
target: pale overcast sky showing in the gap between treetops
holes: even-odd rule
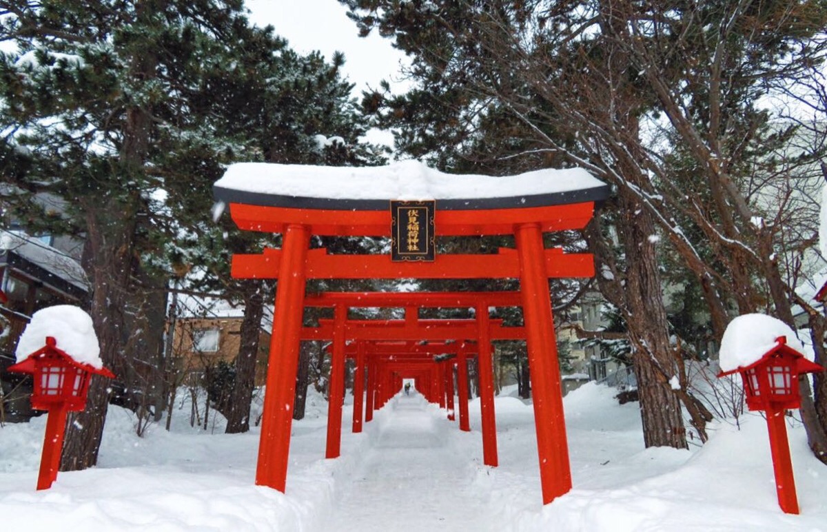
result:
[[[399,61],[404,55],[375,32],[359,37],[356,24],[347,18],[347,8],[337,0],[246,0],[246,6],[251,21],[274,26],[294,50],[319,50],[327,60],[337,50],[344,52],[344,71],[356,84],[356,94],[368,86],[378,88],[382,79],[400,80]]]

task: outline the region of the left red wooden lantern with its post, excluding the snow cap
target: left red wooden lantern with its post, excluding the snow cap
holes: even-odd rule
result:
[[[105,367],[98,368],[75,361],[68,353],[56,347],[55,338],[52,337],[46,337],[44,347],[9,367],[8,371],[31,375],[35,384],[31,394],[31,407],[49,411],[41,471],[37,478],[37,489],[44,490],[57,479],[67,412],[84,410],[90,376],[94,374],[111,379],[114,375]]]

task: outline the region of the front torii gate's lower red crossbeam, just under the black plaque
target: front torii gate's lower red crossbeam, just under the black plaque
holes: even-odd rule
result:
[[[232,276],[278,279],[280,257],[281,250],[272,248],[260,255],[237,253],[232,256]],[[564,253],[556,247],[545,250],[544,260],[548,277],[595,275],[590,253]],[[305,273],[308,279],[516,279],[519,256],[516,250],[503,247],[492,255],[452,254],[438,255],[433,262],[393,262],[390,255],[329,255],[326,249],[311,249]]]

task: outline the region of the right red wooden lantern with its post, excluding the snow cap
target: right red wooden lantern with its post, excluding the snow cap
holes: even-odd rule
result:
[[[778,505],[788,514],[798,513],[796,481],[792,475],[790,445],[786,439],[784,413],[801,406],[798,376],[824,368],[810,362],[804,355],[786,345],[786,336],[776,338],[772,349],[747,367],[724,371],[727,376],[738,371],[743,380],[749,410],[767,412],[767,431],[770,437],[772,469],[776,477]]]

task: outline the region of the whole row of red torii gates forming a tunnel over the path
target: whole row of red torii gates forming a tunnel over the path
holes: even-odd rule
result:
[[[408,163],[407,170],[411,168]],[[483,461],[496,466],[491,342],[522,339],[528,349],[540,482],[547,504],[571,490],[548,279],[594,276],[594,259],[589,253],[546,249],[543,232],[584,228],[609,188],[579,169],[572,179],[570,170],[492,178],[437,175],[423,168],[400,172],[394,165],[353,169],[243,163],[230,165],[214,185],[215,198],[229,205],[239,228],[282,235],[280,249],[232,257],[233,277],[278,280],[256,484],[284,492],[302,340],[332,341],[327,458],[340,452],[347,357],[356,361],[352,429],[358,432],[363,411],[364,421],[370,421],[374,410],[399,391],[403,378],[414,379],[416,389],[446,407],[453,419],[453,367],[460,429],[469,430],[466,361],[476,356]],[[315,175],[322,181],[314,182]],[[441,179],[435,180],[435,175]],[[447,180],[458,182],[465,194],[433,185]],[[332,194],[329,184],[345,181],[351,189]],[[403,189],[394,193],[399,181],[404,181]],[[418,188],[412,188],[411,181]],[[566,185],[558,185],[561,181]],[[412,189],[428,200],[395,200],[409,198]],[[468,190],[480,197],[468,197]],[[310,249],[314,235],[391,237],[392,249],[390,254],[331,254],[324,248]],[[482,235],[514,235],[516,248],[445,255],[433,249],[435,237]],[[504,278],[519,279],[519,291],[305,294],[308,279]],[[332,308],[334,317],[320,319],[318,327],[305,327],[307,306]],[[504,327],[501,320],[491,319],[490,308],[502,306],[521,307],[523,326]],[[348,310],[357,307],[403,308],[405,314],[404,319],[348,319]],[[475,317],[419,319],[423,308],[473,308]]]

